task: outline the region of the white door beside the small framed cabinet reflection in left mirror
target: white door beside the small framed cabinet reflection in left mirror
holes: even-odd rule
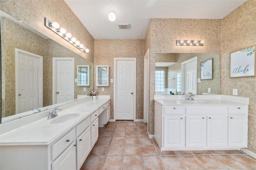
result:
[[[53,104],[74,99],[74,58],[53,58]]]

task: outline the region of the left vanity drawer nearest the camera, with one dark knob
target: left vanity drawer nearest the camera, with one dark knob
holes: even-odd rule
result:
[[[68,134],[58,140],[51,146],[51,160],[59,156],[74,140],[76,139],[76,131],[72,129]]]

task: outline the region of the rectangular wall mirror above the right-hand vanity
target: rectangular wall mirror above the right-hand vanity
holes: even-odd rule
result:
[[[186,65],[196,59],[197,70],[194,78],[196,94],[220,94],[220,54],[218,53],[156,53],[155,94],[169,95],[186,93]],[[212,59],[212,79],[201,80],[201,62]],[[192,66],[191,66],[192,68]],[[183,75],[182,75],[183,73]],[[188,81],[187,81],[188,82]],[[186,88],[186,87],[185,87]],[[188,90],[189,91],[189,90]]]

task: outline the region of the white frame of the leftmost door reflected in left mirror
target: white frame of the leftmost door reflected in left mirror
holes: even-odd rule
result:
[[[38,108],[43,107],[43,57],[24,51],[21,49],[15,48],[15,102],[16,102],[16,114],[18,114],[18,105],[19,105],[19,92],[18,92],[18,53],[23,53],[25,55],[30,55],[35,58],[38,58]]]

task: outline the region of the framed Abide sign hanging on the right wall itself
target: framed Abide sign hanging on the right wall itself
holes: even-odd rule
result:
[[[230,78],[255,76],[255,45],[230,53]]]

